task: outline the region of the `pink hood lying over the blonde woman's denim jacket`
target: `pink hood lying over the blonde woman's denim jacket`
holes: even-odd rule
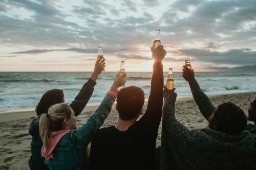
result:
[[[46,159],[53,159],[53,150],[55,149],[56,145],[58,144],[59,140],[66,135],[67,133],[69,133],[70,130],[61,130],[61,131],[57,131],[57,132],[52,132],[51,133],[51,137],[49,138],[49,151],[48,154],[46,154],[46,148],[45,145],[42,145],[42,149],[41,149],[41,154],[43,157],[45,157]]]

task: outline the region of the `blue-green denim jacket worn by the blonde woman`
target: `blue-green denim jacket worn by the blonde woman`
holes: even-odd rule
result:
[[[72,129],[60,139],[53,151],[54,159],[45,159],[50,169],[87,169],[89,161],[87,146],[104,119],[108,117],[113,103],[114,99],[107,94],[86,124],[78,130]]]

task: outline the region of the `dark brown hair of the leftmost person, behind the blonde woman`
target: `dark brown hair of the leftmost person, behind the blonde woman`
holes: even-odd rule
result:
[[[63,91],[60,89],[51,89],[42,95],[39,103],[36,105],[35,111],[37,116],[47,113],[48,108],[54,104],[62,103],[64,99]]]

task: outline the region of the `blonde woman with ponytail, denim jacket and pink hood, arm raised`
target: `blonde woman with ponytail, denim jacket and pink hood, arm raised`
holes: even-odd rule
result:
[[[87,169],[89,161],[88,144],[92,136],[108,117],[118,90],[125,83],[126,74],[116,76],[110,91],[106,94],[95,113],[87,123],[77,130],[73,109],[65,103],[51,106],[48,113],[41,114],[39,134],[43,146],[41,155],[50,169]]]

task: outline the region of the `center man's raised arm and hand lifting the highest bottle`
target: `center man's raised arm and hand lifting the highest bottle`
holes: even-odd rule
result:
[[[162,116],[163,106],[163,65],[162,59],[166,55],[163,46],[158,46],[156,50],[152,49],[155,63],[153,65],[153,75],[151,80],[150,97],[147,102],[145,114],[139,119],[138,125],[157,136],[158,127]]]

